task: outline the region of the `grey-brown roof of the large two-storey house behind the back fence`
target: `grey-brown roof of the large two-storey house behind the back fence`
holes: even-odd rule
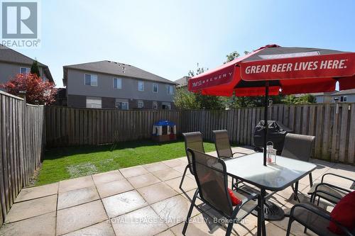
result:
[[[123,77],[133,77],[136,79],[145,79],[153,82],[162,82],[166,84],[176,84],[168,79],[160,77],[156,74],[152,74],[151,72],[147,72],[143,69],[139,69],[138,67],[134,67],[131,64],[124,64],[120,62],[112,62],[112,61],[99,61],[99,62],[89,62],[83,64],[72,64],[66,65],[63,67],[64,69],[64,84],[67,84],[67,69],[80,69],[88,72],[98,72],[103,74],[113,74],[116,76]]]

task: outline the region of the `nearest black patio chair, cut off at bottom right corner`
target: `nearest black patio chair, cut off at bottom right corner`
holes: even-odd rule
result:
[[[327,210],[312,203],[300,203],[291,208],[286,236],[290,235],[293,221],[297,221],[305,226],[305,232],[307,232],[307,229],[310,229],[320,236],[335,236],[337,234],[328,230],[329,223],[332,221],[342,229],[344,235],[354,236],[354,232],[350,232],[346,227],[332,219]]]

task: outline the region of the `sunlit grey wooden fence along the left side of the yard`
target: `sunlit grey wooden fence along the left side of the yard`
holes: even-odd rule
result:
[[[44,107],[0,91],[0,225],[43,154]]]

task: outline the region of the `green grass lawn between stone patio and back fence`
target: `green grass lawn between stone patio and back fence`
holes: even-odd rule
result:
[[[54,183],[114,169],[160,162],[184,157],[182,140],[157,144],[151,140],[121,142],[110,152],[111,145],[60,147],[45,152],[45,159],[34,185]],[[214,151],[214,144],[204,142],[206,152]]]

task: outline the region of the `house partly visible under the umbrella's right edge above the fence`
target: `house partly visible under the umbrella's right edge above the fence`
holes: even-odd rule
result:
[[[335,99],[339,102],[355,102],[355,89],[348,89],[343,91],[332,91],[327,93],[313,93],[317,103],[334,103]]]

